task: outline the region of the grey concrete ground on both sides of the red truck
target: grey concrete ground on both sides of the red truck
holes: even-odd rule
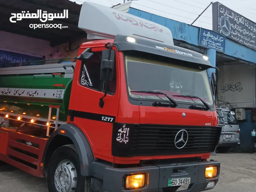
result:
[[[220,181],[209,192],[255,192],[256,154],[217,153],[221,162]],[[12,166],[0,166],[0,192],[48,192],[46,180]]]

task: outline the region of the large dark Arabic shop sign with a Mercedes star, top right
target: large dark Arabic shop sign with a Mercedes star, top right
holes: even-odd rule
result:
[[[256,24],[219,2],[212,4],[212,29],[256,50]]]

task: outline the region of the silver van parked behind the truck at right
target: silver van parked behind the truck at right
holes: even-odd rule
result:
[[[219,124],[222,126],[218,152],[228,152],[232,147],[240,146],[240,128],[234,111],[217,106]]]

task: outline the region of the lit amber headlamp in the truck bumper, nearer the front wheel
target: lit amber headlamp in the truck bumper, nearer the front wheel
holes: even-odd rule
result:
[[[126,180],[126,184],[125,184],[126,189],[143,188],[146,184],[145,174],[127,175],[125,180]]]

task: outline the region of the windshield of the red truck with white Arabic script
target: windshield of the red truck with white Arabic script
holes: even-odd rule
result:
[[[213,105],[207,71],[199,66],[192,67],[191,63],[185,65],[182,61],[152,54],[125,52],[125,67],[128,93],[132,98],[170,102],[163,94],[134,92],[147,90],[163,92],[176,102],[202,105],[202,99]]]

